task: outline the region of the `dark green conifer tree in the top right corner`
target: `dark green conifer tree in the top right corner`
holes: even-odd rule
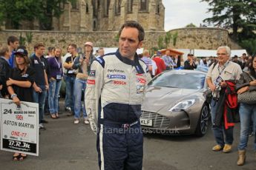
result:
[[[209,3],[211,18],[204,22],[215,26],[232,29],[234,41],[242,41],[243,35],[256,30],[256,1],[255,0],[201,0]],[[245,33],[246,32],[246,33]],[[248,33],[249,32],[249,33]]]

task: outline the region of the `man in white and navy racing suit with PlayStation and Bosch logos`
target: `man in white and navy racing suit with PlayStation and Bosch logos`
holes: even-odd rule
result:
[[[97,134],[99,169],[142,169],[141,103],[150,75],[137,56],[144,30],[127,21],[119,30],[119,49],[96,58],[85,92],[91,128]]]

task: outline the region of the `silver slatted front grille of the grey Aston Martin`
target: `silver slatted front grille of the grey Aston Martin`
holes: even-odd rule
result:
[[[153,128],[168,128],[170,125],[170,119],[154,112],[145,112],[142,110],[140,118],[151,119],[153,121]]]

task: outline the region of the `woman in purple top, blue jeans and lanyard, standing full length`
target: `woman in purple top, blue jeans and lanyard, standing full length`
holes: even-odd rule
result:
[[[50,67],[50,86],[48,94],[48,105],[50,118],[59,118],[59,90],[62,86],[62,50],[57,47],[54,51],[54,56],[48,58]]]

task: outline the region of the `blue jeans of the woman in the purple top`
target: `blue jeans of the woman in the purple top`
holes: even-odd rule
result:
[[[50,114],[53,115],[59,111],[59,90],[60,86],[62,86],[62,81],[52,81],[50,80],[49,84],[49,95],[48,95],[48,103],[49,103],[49,111]]]

